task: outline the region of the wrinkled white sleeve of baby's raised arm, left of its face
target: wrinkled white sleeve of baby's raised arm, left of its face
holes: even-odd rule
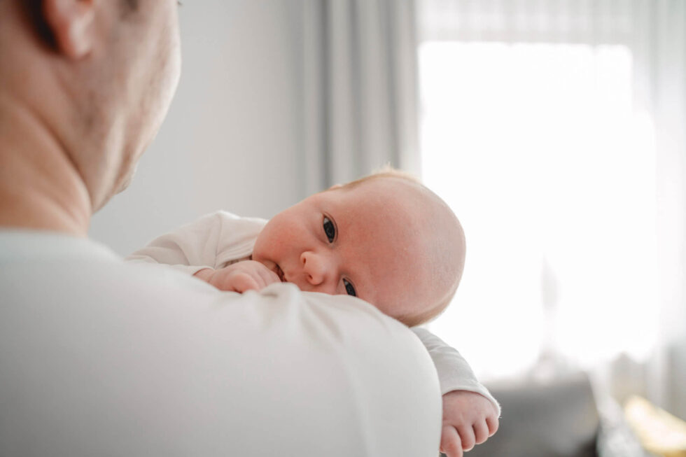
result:
[[[171,265],[188,274],[250,255],[266,221],[216,211],[151,241],[125,260]]]

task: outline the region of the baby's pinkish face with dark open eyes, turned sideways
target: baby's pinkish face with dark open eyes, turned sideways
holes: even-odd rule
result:
[[[416,199],[394,185],[374,180],[304,199],[269,220],[253,260],[301,290],[355,295],[393,317],[412,314],[415,292],[430,284],[421,268],[430,260],[427,221],[408,217]]]

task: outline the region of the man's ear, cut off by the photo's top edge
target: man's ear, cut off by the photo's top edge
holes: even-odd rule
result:
[[[94,42],[95,0],[43,0],[45,24],[57,49],[71,59],[88,55]]]

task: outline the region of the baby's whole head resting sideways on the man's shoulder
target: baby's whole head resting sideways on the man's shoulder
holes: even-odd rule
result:
[[[412,326],[449,304],[462,227],[419,181],[384,171],[307,197],[269,220],[253,260],[302,290],[356,295]]]

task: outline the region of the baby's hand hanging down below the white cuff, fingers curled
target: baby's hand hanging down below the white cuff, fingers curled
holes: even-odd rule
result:
[[[498,411],[491,401],[475,392],[451,391],[443,395],[440,451],[462,457],[498,430]]]

